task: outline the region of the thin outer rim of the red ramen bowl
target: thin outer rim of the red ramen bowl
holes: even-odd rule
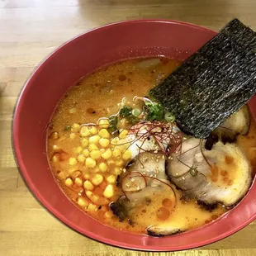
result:
[[[70,42],[73,42],[74,40],[78,40],[81,36],[85,36],[88,33],[94,33],[96,31],[102,31],[107,29],[110,26],[120,26],[122,24],[127,23],[168,23],[168,24],[176,24],[176,25],[184,25],[189,26],[192,28],[196,28],[197,30],[201,31],[211,31],[214,33],[217,33],[216,31],[212,31],[211,29],[205,27],[205,26],[199,26],[192,23],[188,23],[185,21],[177,21],[177,20],[167,20],[167,19],[135,19],[135,20],[125,20],[125,21],[117,21],[117,22],[111,22],[104,26],[97,26],[95,28],[92,28],[91,30],[85,31],[78,36],[74,36],[72,39],[67,40],[62,45],[59,45],[50,55],[47,55],[44,59],[41,60],[41,62],[36,66],[36,68],[32,71],[29,78],[27,78],[26,82],[24,83],[23,88],[21,88],[21,92],[17,98],[16,106],[13,111],[13,118],[12,118],[12,151],[14,155],[14,159],[17,164],[17,169],[21,175],[21,178],[23,179],[24,183],[26,183],[26,187],[31,192],[33,197],[35,197],[36,201],[40,203],[41,206],[45,208],[52,216],[55,217],[56,220],[61,221],[64,225],[67,225],[71,230],[76,231],[80,235],[86,235],[90,239],[94,239],[97,242],[101,242],[103,244],[108,244],[112,246],[116,246],[119,248],[124,249],[135,249],[135,250],[141,250],[141,251],[154,251],[154,252],[170,252],[170,251],[178,251],[178,250],[185,250],[185,249],[194,249],[197,247],[201,247],[206,244],[212,244],[216,241],[219,241],[221,239],[225,239],[226,237],[235,234],[237,231],[243,229],[246,225],[249,225],[252,221],[256,219],[256,214],[251,216],[248,220],[245,220],[242,224],[237,225],[235,228],[233,228],[230,231],[224,232],[221,235],[217,235],[211,239],[206,239],[200,242],[188,242],[186,245],[176,245],[176,246],[161,246],[161,245],[152,245],[152,244],[129,244],[129,241],[127,242],[119,242],[115,239],[110,239],[106,237],[102,237],[101,234],[93,233],[90,231],[86,231],[83,229],[80,229],[77,225],[73,225],[73,222],[64,217],[63,215],[59,214],[59,211],[55,210],[55,207],[50,206],[47,200],[43,196],[41,196],[40,191],[36,189],[33,182],[31,181],[31,178],[29,176],[29,173],[26,171],[26,166],[23,163],[22,160],[22,153],[21,149],[19,147],[19,139],[17,136],[17,130],[19,126],[19,115],[21,112],[21,102],[24,100],[24,95],[26,94],[26,90],[29,88],[31,81],[33,80],[36,73],[40,72],[40,69],[42,69],[45,66],[45,63],[48,59],[52,58],[59,50],[64,49],[66,45],[69,45]],[[251,185],[253,186],[253,184]],[[102,224],[104,225],[104,224]],[[120,230],[116,230],[116,232],[120,232]]]

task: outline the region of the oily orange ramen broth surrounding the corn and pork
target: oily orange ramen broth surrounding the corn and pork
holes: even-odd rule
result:
[[[118,220],[108,205],[122,194],[121,188],[116,186],[116,178],[126,168],[128,159],[124,161],[113,155],[109,159],[97,159],[96,163],[102,161],[107,166],[104,172],[98,165],[88,168],[84,164],[92,151],[88,149],[87,139],[79,134],[80,125],[97,123],[99,118],[116,114],[122,101],[135,107],[133,97],[146,96],[150,88],[167,77],[180,64],[177,60],[161,59],[159,64],[141,69],[136,66],[140,61],[141,59],[131,59],[98,69],[65,94],[55,110],[48,130],[47,147],[52,172],[66,196],[76,206],[93,218],[117,229],[141,234],[145,233],[149,225],[157,225],[169,220],[173,223],[183,222],[188,228],[204,225],[221,216],[226,211],[225,208],[219,206],[210,212],[197,205],[195,200],[177,201],[176,211],[168,216],[169,212],[172,212],[165,210],[172,207],[172,203],[168,201],[168,190],[157,197],[152,197],[151,200],[155,201],[152,206],[140,206],[133,210],[135,224]],[[249,149],[256,145],[254,134],[253,123],[249,135],[239,138],[239,145],[244,148],[249,159],[255,158],[256,150]],[[96,145],[100,148],[98,142]],[[111,148],[111,145],[109,147]],[[107,149],[99,150],[107,151]],[[73,159],[73,162],[70,162],[70,159]],[[100,174],[103,180],[99,181],[98,185],[93,185],[92,178],[96,174]],[[85,195],[86,181],[93,185],[92,200],[88,200]],[[109,183],[113,187],[113,195],[106,198],[103,192]],[[181,196],[179,191],[176,193]]]

